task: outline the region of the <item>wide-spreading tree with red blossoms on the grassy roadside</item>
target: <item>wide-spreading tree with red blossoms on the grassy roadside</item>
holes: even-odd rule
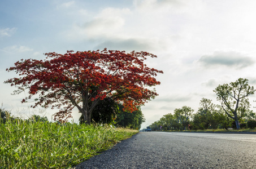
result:
[[[56,119],[71,117],[73,108],[79,109],[86,123],[90,124],[92,110],[105,97],[110,97],[132,112],[158,94],[147,87],[160,84],[154,77],[160,70],[144,64],[147,57],[157,57],[147,52],[125,51],[67,51],[45,54],[45,60],[27,59],[6,69],[15,71],[19,78],[5,83],[18,87],[14,94],[29,90],[22,103],[34,99],[35,108],[58,108]]]

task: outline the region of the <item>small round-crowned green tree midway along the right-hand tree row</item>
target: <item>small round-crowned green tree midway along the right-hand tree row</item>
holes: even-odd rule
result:
[[[182,126],[184,127],[184,130],[186,130],[186,127],[188,127],[189,118],[191,117],[193,112],[194,110],[189,106],[183,106],[181,109],[174,110],[174,114],[177,119],[180,120]]]

